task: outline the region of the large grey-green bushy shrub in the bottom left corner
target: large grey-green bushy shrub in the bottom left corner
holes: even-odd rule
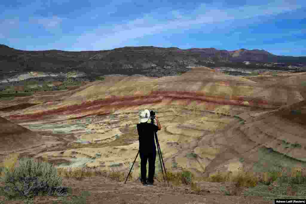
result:
[[[35,162],[33,159],[21,158],[19,167],[13,170],[4,169],[5,182],[4,196],[11,198],[32,198],[36,195],[58,195],[67,193],[62,187],[62,178],[58,176],[57,169],[47,162]]]

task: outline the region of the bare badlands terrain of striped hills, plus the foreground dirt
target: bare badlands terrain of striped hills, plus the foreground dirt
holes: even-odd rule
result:
[[[305,81],[304,72],[230,76],[198,66],[179,76],[105,75],[71,90],[2,100],[0,156],[19,153],[58,168],[129,171],[139,146],[138,111],[149,109],[162,126],[158,138],[168,171],[185,168],[205,177],[238,168],[304,168]],[[136,178],[139,161],[132,170]],[[121,198],[127,203],[248,203],[252,198],[220,196],[221,184],[199,185],[205,189],[201,195],[171,190],[163,182],[151,187],[151,194],[139,181],[73,184],[79,192],[90,187],[103,203]],[[252,201],[266,202],[258,195]]]

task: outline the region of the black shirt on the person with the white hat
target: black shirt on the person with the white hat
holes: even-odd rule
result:
[[[141,153],[156,151],[154,132],[158,131],[158,126],[152,123],[138,123],[137,131],[139,135],[139,151]]]

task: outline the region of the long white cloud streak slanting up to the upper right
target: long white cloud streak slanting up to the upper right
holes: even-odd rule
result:
[[[93,30],[93,32],[81,35],[78,38],[78,42],[84,44],[85,47],[86,44],[91,44],[91,49],[94,50],[111,49],[118,47],[129,39],[136,39],[146,35],[175,32],[176,29],[197,28],[203,24],[207,26],[206,32],[211,32],[218,24],[226,21],[277,15],[300,9],[303,6],[294,4],[292,1],[282,1],[278,3],[272,2],[267,5],[240,6],[231,9],[222,8],[221,4],[213,4],[212,6],[201,4],[197,9],[189,11],[188,14],[182,14],[177,10],[160,13],[159,10],[123,24],[102,25]],[[172,17],[167,20],[164,17],[169,16],[169,13],[172,14]],[[209,25],[211,26],[209,27]],[[235,25],[228,24],[228,26]],[[79,45],[77,44],[76,46]]]

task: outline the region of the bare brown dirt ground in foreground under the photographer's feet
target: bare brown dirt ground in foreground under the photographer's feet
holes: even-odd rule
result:
[[[164,182],[156,181],[154,186],[143,186],[139,181],[118,182],[108,178],[87,178],[78,180],[63,180],[63,186],[72,187],[72,195],[68,195],[67,200],[71,201],[72,197],[79,197],[82,192],[88,191],[90,194],[86,197],[86,203],[91,204],[255,204],[255,203],[273,203],[266,201],[261,197],[243,195],[225,196],[220,189],[226,187],[233,188],[230,182],[227,184],[220,183],[201,183],[201,191],[195,194],[189,186],[177,187],[170,182],[169,187]],[[242,194],[242,193],[241,193]],[[37,196],[34,203],[37,204],[54,204],[54,201],[62,203],[62,198],[55,196]],[[4,198],[0,198],[0,201]],[[23,203],[23,201],[6,201],[7,204]]]

